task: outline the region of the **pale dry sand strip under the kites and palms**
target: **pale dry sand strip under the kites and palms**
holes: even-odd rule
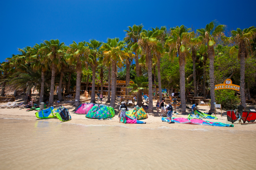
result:
[[[20,101],[24,101],[24,96],[25,95],[20,95],[16,97],[16,101],[19,103]],[[57,96],[56,96],[57,97]],[[36,94],[32,95],[32,98],[35,98],[36,101],[39,100],[39,96]],[[84,98],[81,98],[80,100],[83,100]],[[90,98],[88,98],[90,99]],[[68,103],[69,100],[66,100],[61,103]],[[103,98],[102,104],[109,105],[109,103],[106,102],[107,98]],[[145,100],[143,100],[145,102]],[[96,100],[97,102],[97,100]],[[60,104],[61,104],[60,103]],[[98,102],[97,102],[98,103]],[[135,102],[136,103],[136,102]],[[3,103],[1,103],[2,105]],[[85,124],[85,125],[122,125],[126,127],[141,127],[141,128],[152,128],[152,129],[159,129],[159,128],[173,128],[173,129],[211,129],[211,130],[249,130],[249,131],[256,131],[256,123],[243,123],[241,124],[234,124],[234,127],[212,127],[212,126],[204,126],[204,125],[190,125],[190,124],[182,124],[182,123],[172,123],[169,124],[167,122],[162,122],[161,121],[161,115],[160,112],[156,112],[156,100],[153,101],[153,106],[154,107],[154,113],[153,114],[148,114],[148,119],[142,120],[144,122],[147,122],[146,124],[121,124],[119,123],[119,118],[118,118],[118,108],[120,104],[120,98],[116,98],[116,107],[115,107],[115,112],[116,115],[113,119],[110,120],[98,120],[98,119],[88,119],[85,117],[85,115],[77,115],[75,114],[75,107],[72,105],[67,105],[65,106],[68,110],[69,113],[72,117],[72,120],[68,122],[63,122],[63,123],[75,123],[75,124]],[[144,103],[145,105],[146,103]],[[191,103],[187,103],[187,113],[191,112]],[[133,107],[128,107],[130,110],[132,110]],[[251,107],[251,109],[255,109],[254,107]],[[174,109],[174,108],[173,108]],[[208,106],[198,106],[198,109],[202,112],[207,112],[209,110]],[[57,118],[51,118],[51,119],[38,119],[35,116],[35,110],[33,111],[28,111],[26,112],[27,109],[20,109],[20,108],[0,108],[0,118],[13,118],[13,119],[24,119],[24,120],[33,120],[33,121],[48,121],[48,122],[60,122]],[[147,112],[147,109],[145,109]],[[161,111],[161,110],[159,110]],[[176,108],[177,113],[180,112],[180,107]],[[179,115],[173,114],[172,117],[184,117],[187,118],[187,115]],[[226,116],[226,111],[222,110],[222,117],[220,113],[220,109],[217,109],[216,116],[218,117],[218,120],[212,120],[213,122],[223,122],[226,123],[227,116]],[[204,119],[206,120],[206,119]],[[209,120],[209,119],[207,119]],[[228,123],[228,122],[227,122]]]

